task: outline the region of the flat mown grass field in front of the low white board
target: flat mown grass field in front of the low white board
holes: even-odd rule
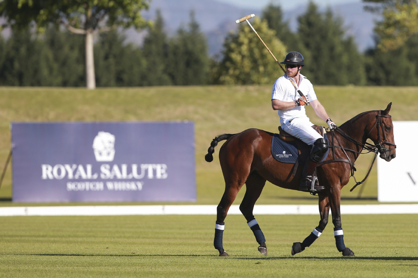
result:
[[[3,217],[0,277],[416,277],[418,215],[345,215],[341,257],[332,224],[302,253],[290,247],[319,216],[258,216],[266,257],[242,216]]]

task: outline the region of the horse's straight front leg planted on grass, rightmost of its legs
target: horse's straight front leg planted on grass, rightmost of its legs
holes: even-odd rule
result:
[[[334,224],[334,237],[336,239],[336,246],[338,251],[342,252],[343,256],[354,257],[354,252],[350,248],[345,247],[344,233],[341,227],[341,189],[331,189],[331,213],[332,223]]]

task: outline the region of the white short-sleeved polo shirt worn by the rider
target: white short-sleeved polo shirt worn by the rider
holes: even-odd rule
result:
[[[312,83],[310,83],[310,81],[305,76],[301,74],[299,74],[299,76],[299,90],[303,93],[303,95],[308,96],[309,101],[316,100],[317,95],[315,94],[315,90],[313,90]],[[288,77],[286,74],[278,78],[273,85],[273,92],[271,93],[272,100],[275,99],[290,102],[300,98],[298,90],[288,79],[292,79],[296,84],[296,81],[293,78]],[[278,114],[280,116],[281,126],[285,125],[289,120],[294,118],[308,118],[306,115],[305,106],[295,106],[287,110],[278,110]]]

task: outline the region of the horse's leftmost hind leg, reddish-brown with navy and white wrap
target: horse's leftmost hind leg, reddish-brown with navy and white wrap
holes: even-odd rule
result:
[[[223,249],[223,231],[225,229],[225,218],[229,207],[237,197],[243,184],[240,183],[226,183],[225,192],[217,207],[216,224],[215,224],[215,238],[214,246],[219,251],[219,257],[229,257],[228,253]]]

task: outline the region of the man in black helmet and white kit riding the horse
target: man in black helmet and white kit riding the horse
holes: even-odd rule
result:
[[[311,182],[317,164],[328,149],[328,142],[312,128],[313,124],[307,117],[304,106],[310,104],[318,117],[325,121],[331,130],[337,125],[331,121],[324,106],[317,99],[312,83],[300,74],[301,68],[305,65],[302,54],[296,51],[289,52],[281,64],[285,65],[286,74],[278,78],[273,85],[271,106],[274,110],[278,110],[283,131],[312,146],[309,159],[303,167],[299,190],[321,191],[325,187],[318,183],[315,183],[314,190],[311,191]],[[289,80],[294,81],[298,88],[294,87]],[[302,91],[306,97],[301,96],[298,90]]]

